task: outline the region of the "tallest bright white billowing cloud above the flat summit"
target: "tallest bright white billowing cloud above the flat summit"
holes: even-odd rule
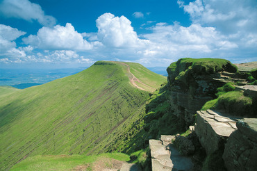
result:
[[[115,17],[105,13],[97,19],[97,37],[106,47],[136,48],[142,47],[146,40],[140,40],[126,17]]]

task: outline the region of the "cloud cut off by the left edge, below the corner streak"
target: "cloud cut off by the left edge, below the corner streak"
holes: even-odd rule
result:
[[[8,57],[24,57],[26,56],[24,50],[17,49],[15,40],[26,32],[18,29],[0,24],[0,58],[2,56]]]

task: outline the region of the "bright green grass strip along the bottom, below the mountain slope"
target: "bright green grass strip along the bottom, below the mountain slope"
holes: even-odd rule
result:
[[[91,170],[97,160],[108,161],[108,158],[118,161],[130,160],[128,155],[120,153],[101,154],[97,156],[42,155],[26,158],[26,160],[18,163],[10,170],[74,170],[79,166],[85,166],[87,170]]]

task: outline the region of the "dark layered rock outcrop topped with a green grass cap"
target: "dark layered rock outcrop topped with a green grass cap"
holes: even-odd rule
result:
[[[186,127],[192,125],[195,113],[215,98],[217,88],[231,81],[247,83],[247,75],[235,71],[227,60],[184,58],[172,63],[167,68],[172,113],[185,120]]]

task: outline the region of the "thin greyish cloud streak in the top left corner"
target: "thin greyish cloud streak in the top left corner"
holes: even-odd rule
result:
[[[56,24],[54,17],[44,15],[40,5],[31,3],[28,0],[3,0],[0,3],[0,13],[6,17],[25,19],[28,22],[36,20],[43,26],[53,26]]]

